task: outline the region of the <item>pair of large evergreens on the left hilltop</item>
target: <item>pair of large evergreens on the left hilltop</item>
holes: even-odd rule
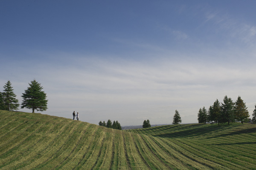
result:
[[[43,87],[35,79],[31,81],[29,87],[22,93],[21,97],[23,101],[21,103],[21,109],[27,108],[32,109],[32,113],[37,111],[47,110],[47,96]],[[3,92],[0,92],[0,109],[1,110],[17,110],[20,106],[17,95],[13,92],[13,87],[10,81],[3,86]]]

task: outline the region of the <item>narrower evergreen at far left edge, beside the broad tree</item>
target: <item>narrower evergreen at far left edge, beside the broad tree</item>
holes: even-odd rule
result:
[[[2,92],[2,102],[3,108],[6,110],[17,110],[20,104],[18,104],[18,99],[13,92],[12,84],[10,81],[7,81],[6,85],[3,86],[4,92]]]

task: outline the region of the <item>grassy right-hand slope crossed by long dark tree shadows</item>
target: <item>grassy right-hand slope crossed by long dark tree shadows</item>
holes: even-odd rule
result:
[[[255,124],[183,124],[126,131],[168,140],[181,155],[210,169],[256,169]]]

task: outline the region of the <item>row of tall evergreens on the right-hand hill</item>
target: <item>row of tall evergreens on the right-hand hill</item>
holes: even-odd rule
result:
[[[205,107],[200,108],[198,111],[198,123],[207,122],[211,123],[228,123],[230,122],[244,122],[248,121],[249,112],[247,110],[246,104],[238,96],[236,102],[233,102],[231,98],[228,98],[227,95],[223,99],[223,103],[220,103],[218,99],[213,103],[212,106],[207,110]],[[256,123],[256,105],[253,111],[253,122]]]

